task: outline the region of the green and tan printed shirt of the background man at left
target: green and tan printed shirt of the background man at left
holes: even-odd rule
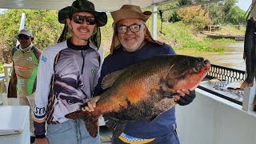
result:
[[[22,49],[20,45],[11,50],[13,69],[8,86],[8,98],[17,98],[17,94],[28,96],[36,87],[38,62],[41,51],[32,43]]]

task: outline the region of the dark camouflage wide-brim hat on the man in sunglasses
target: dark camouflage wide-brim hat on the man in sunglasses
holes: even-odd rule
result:
[[[87,0],[76,0],[72,3],[72,6],[66,6],[62,10],[58,11],[58,22],[65,24],[66,18],[74,13],[87,12],[94,14],[94,18],[98,26],[105,26],[107,22],[107,16],[105,12],[95,11],[94,4]]]

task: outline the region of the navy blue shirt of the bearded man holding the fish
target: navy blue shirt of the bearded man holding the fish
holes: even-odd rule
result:
[[[113,54],[108,55],[104,59],[101,77],[98,80],[98,85],[94,89],[94,96],[104,92],[101,85],[102,79],[106,74],[110,74],[116,70],[122,70],[143,59],[161,54],[175,54],[175,52],[171,46],[166,44],[158,45],[152,42],[147,42],[145,46],[142,46],[141,49],[134,52],[127,52],[122,48],[114,50]],[[153,141],[154,138],[173,133],[176,129],[175,106],[165,113],[160,114],[153,122],[150,122],[149,119],[128,122],[126,129],[118,138],[126,143],[150,142]]]

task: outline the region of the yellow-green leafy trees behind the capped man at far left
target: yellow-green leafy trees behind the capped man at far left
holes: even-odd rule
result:
[[[26,14],[26,26],[34,34],[34,45],[43,50],[57,42],[62,32],[57,10],[6,10],[0,15],[1,62],[10,61],[10,50],[16,45],[22,13]]]

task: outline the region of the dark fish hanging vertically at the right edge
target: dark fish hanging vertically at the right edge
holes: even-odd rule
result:
[[[250,87],[254,85],[255,78],[255,18],[247,20],[245,42],[244,42],[244,53],[243,58],[246,60],[246,80],[242,82],[242,88]]]

